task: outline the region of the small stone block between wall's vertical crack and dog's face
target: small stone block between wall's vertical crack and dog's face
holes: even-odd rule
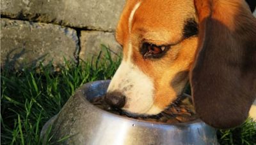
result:
[[[79,59],[84,61],[97,57],[100,51],[102,51],[101,56],[104,56],[106,50],[111,53],[113,59],[122,55],[122,47],[116,42],[113,32],[81,31],[80,42]]]

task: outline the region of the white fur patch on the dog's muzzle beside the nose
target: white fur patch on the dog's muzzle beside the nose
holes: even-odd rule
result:
[[[154,104],[154,84],[131,62],[122,64],[108,87],[108,92],[121,92],[126,97],[123,109],[130,113],[147,113]]]

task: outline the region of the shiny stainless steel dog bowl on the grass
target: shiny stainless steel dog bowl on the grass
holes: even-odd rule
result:
[[[76,91],[52,125],[52,141],[62,144],[218,144],[216,130],[200,120],[188,123],[154,123],[108,113],[88,100],[106,93],[108,81],[86,83]]]

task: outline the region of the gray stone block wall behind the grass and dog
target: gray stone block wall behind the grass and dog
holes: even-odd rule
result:
[[[88,60],[106,45],[122,48],[115,28],[125,0],[1,1],[1,67]]]

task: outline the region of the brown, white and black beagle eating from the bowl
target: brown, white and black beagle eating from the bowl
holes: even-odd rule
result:
[[[159,114],[189,82],[205,123],[231,128],[248,117],[256,97],[256,18],[246,1],[127,0],[116,40],[123,60],[106,95],[112,106]]]

